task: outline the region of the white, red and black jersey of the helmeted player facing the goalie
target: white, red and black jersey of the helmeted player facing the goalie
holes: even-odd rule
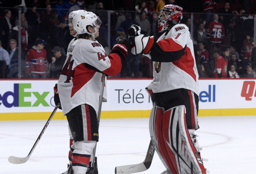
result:
[[[107,56],[97,41],[77,39],[70,44],[58,81],[63,115],[80,104],[89,104],[98,113],[102,72],[114,76],[121,68],[118,54]]]

